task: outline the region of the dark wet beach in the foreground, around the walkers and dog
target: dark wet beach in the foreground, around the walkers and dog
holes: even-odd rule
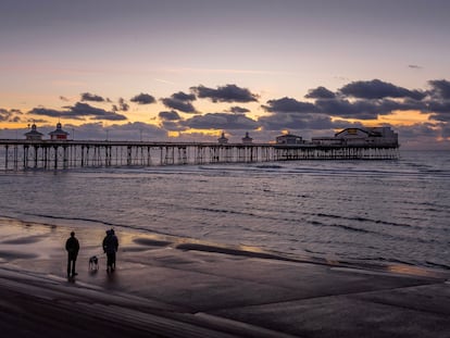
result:
[[[78,228],[78,276],[67,279],[70,230],[0,220],[1,337],[450,337],[445,272],[116,229],[117,270],[107,274],[104,229]]]

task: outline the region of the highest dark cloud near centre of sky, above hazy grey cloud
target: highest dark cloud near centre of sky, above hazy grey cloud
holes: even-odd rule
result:
[[[258,102],[258,96],[247,88],[236,85],[226,85],[217,89],[208,88],[202,85],[190,88],[197,97],[210,99],[213,102]]]

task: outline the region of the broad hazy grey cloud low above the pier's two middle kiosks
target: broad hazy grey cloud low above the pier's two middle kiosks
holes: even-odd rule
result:
[[[255,129],[259,123],[245,115],[227,113],[209,113],[205,115],[196,115],[180,125],[195,129]]]

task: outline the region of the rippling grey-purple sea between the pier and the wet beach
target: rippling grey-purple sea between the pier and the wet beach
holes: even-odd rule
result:
[[[0,218],[450,270],[450,151],[400,151],[398,160],[0,171]]]

